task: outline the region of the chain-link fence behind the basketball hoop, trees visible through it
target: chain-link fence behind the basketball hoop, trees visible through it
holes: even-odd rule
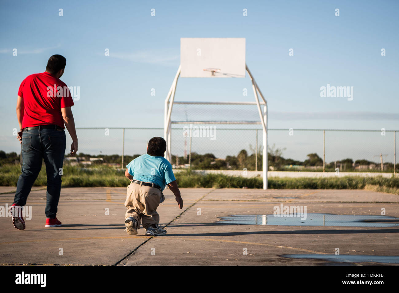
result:
[[[230,125],[232,128],[179,126],[172,128],[171,133],[171,163],[175,168],[262,170],[262,129],[233,128],[234,125]],[[163,133],[163,128],[77,128],[78,153],[84,153],[85,157],[115,154],[119,160],[114,161],[115,165],[122,161],[126,165],[133,155],[146,153],[150,138],[162,137]],[[339,168],[341,171],[394,172],[396,133],[393,130],[269,129],[269,170],[334,171]]]

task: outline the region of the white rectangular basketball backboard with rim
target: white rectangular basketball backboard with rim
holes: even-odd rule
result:
[[[180,77],[245,77],[245,38],[182,37],[180,65]]]

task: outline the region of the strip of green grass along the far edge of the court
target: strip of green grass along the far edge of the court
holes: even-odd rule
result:
[[[19,165],[0,166],[0,186],[16,186],[21,173]],[[180,187],[207,188],[262,188],[261,177],[236,177],[224,174],[201,174],[191,170],[176,172]],[[129,181],[123,170],[108,166],[75,167],[64,165],[63,187],[126,187]],[[367,189],[399,195],[399,177],[329,177],[329,178],[279,178],[269,179],[270,189]],[[34,186],[46,186],[43,166]]]

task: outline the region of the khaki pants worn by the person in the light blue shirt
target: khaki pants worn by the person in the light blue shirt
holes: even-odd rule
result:
[[[144,229],[152,224],[159,223],[159,214],[156,208],[159,205],[162,192],[158,188],[130,183],[127,187],[125,206],[127,208],[125,219],[136,219],[138,228],[140,220]]]

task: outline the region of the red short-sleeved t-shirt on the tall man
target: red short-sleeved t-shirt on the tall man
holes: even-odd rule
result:
[[[47,124],[65,128],[61,108],[74,104],[69,88],[60,79],[48,72],[29,75],[22,81],[18,96],[24,100],[22,128]]]

